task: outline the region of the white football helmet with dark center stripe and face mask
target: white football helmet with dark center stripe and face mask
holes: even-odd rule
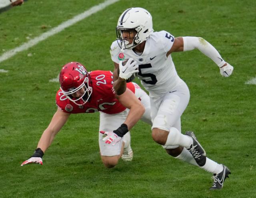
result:
[[[122,31],[132,32],[136,30],[133,42],[129,44],[122,35]],[[116,27],[117,42],[120,48],[132,49],[153,33],[153,22],[151,14],[144,8],[128,8],[118,19]],[[132,38],[132,37],[131,37]]]

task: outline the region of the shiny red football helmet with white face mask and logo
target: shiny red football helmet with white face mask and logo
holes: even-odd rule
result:
[[[92,94],[89,78],[90,76],[82,64],[69,62],[60,71],[60,89],[69,100],[77,105],[83,105]]]

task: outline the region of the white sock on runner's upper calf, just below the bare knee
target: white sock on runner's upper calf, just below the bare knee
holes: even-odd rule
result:
[[[190,136],[183,135],[178,131],[178,129],[171,127],[164,146],[179,145],[185,148],[189,148],[192,143],[193,140]]]

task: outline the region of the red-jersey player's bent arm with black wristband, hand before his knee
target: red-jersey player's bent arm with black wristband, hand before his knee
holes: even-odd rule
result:
[[[112,144],[112,146],[122,139],[138,120],[140,120],[145,112],[144,106],[129,89],[126,89],[121,95],[116,95],[116,98],[123,106],[130,109],[130,111],[124,123],[116,130],[110,132],[100,131],[100,133],[106,135],[102,140],[105,141],[106,144]]]

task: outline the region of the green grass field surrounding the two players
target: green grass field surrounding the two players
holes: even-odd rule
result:
[[[104,0],[28,0],[0,14],[0,56]],[[176,160],[143,122],[132,129],[134,160],[104,167],[99,114],[70,116],[44,155],[21,167],[56,111],[56,78],[70,61],[113,70],[109,47],[120,14],[144,7],[154,30],[201,36],[234,66],[230,78],[197,50],[172,54],[190,88],[182,130],[193,130],[208,157],[232,172],[220,191],[212,174]],[[256,2],[252,0],[121,0],[0,62],[0,198],[253,198],[256,197]],[[138,79],[136,82],[139,83]]]

